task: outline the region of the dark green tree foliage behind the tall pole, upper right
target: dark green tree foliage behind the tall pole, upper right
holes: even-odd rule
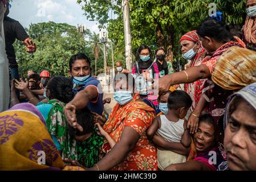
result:
[[[100,28],[107,26],[109,38],[124,53],[123,12],[121,0],[78,0],[88,19],[99,20]],[[129,0],[133,53],[140,44],[152,49],[165,47],[169,59],[180,57],[178,40],[195,30],[209,13],[209,4],[216,3],[224,13],[226,23],[242,27],[246,17],[246,0]],[[109,18],[113,10],[116,19]],[[118,50],[118,51],[117,51]],[[116,55],[116,54],[115,54]],[[175,59],[174,59],[175,60]]]

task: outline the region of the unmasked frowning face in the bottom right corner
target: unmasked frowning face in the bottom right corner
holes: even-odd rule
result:
[[[256,170],[256,110],[244,100],[230,115],[224,146],[231,170]]]

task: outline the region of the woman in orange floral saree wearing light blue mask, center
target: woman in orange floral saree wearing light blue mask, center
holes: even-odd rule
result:
[[[146,135],[146,130],[155,118],[155,110],[134,93],[134,78],[128,73],[115,77],[114,98],[117,101],[103,126],[116,144],[105,141],[107,153],[94,167],[87,170],[155,171],[157,151]]]

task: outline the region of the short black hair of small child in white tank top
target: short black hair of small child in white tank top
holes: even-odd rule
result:
[[[177,110],[181,107],[189,108],[192,105],[192,99],[188,93],[183,90],[174,90],[168,97],[168,108]]]

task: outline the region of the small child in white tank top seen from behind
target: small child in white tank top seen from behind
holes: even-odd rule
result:
[[[189,95],[182,90],[175,90],[169,93],[168,112],[156,117],[152,125],[147,130],[149,139],[154,135],[160,135],[169,142],[181,143],[184,147],[189,147],[191,143],[189,130],[186,128],[186,122],[182,119],[192,105]],[[165,167],[174,163],[186,161],[185,155],[166,150],[157,146],[158,167],[163,170]]]

